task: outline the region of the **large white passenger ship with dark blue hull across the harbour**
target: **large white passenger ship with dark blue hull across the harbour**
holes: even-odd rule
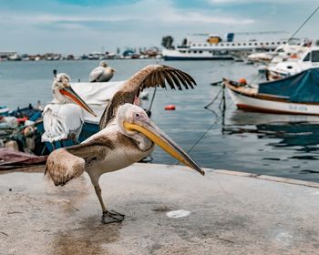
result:
[[[228,33],[224,39],[218,35],[193,34],[184,39],[183,45],[174,49],[163,49],[162,56],[165,60],[233,59],[231,53],[236,51],[273,51],[277,46],[286,43],[287,40],[258,39],[257,35],[277,33],[283,32]]]

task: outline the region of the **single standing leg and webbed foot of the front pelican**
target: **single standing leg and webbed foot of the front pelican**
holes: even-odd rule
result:
[[[102,208],[102,223],[104,224],[108,224],[108,223],[113,223],[113,222],[122,222],[125,215],[124,214],[120,214],[115,210],[110,210],[108,211],[108,209],[106,208],[106,206],[104,205],[104,201],[102,198],[102,190],[99,187],[98,184],[98,179],[93,178],[89,172],[87,172],[89,177],[91,178],[92,184],[94,186],[94,189],[96,190],[96,194],[98,196],[98,201],[101,205]]]

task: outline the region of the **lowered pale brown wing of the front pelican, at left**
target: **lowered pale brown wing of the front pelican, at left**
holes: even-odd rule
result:
[[[54,150],[46,160],[46,173],[54,184],[65,185],[70,179],[80,176],[94,160],[107,157],[114,148],[108,138],[96,138],[87,143]]]

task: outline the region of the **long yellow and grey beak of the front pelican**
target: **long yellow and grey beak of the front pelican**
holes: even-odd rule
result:
[[[205,172],[199,167],[199,165],[197,165],[197,163],[190,158],[190,156],[182,148],[180,148],[180,146],[178,146],[168,135],[161,131],[160,128],[151,121],[149,123],[143,122],[142,125],[124,121],[123,126],[129,131],[135,130],[144,134],[147,138],[170,154],[170,156],[176,158],[186,166],[200,172],[201,175],[205,175]]]

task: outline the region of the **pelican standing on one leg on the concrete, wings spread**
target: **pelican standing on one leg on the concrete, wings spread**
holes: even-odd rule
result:
[[[99,177],[126,168],[147,157],[155,144],[172,157],[204,175],[204,171],[171,138],[160,130],[146,112],[134,102],[145,87],[165,86],[193,88],[195,81],[188,74],[169,67],[152,65],[130,77],[112,97],[100,120],[101,130],[81,144],[59,148],[46,161],[46,173],[55,185],[65,185],[70,179],[87,172],[102,208],[102,223],[121,222],[124,215],[108,210],[101,196]],[[45,173],[45,174],[46,174]]]

